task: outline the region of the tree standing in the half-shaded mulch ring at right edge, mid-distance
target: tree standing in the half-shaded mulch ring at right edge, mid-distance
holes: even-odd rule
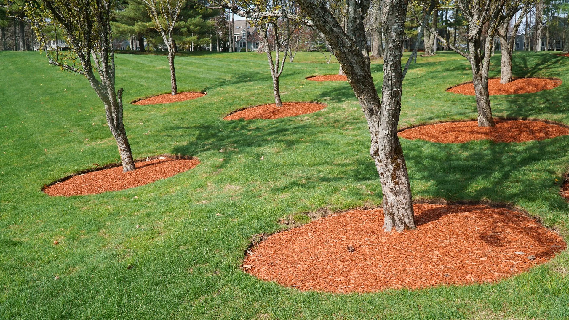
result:
[[[490,93],[488,92],[488,73],[496,29],[502,23],[503,17],[509,15],[509,13],[502,14],[506,2],[508,0],[456,0],[457,6],[467,21],[469,52],[461,51],[442,38],[436,30],[424,25],[446,46],[451,47],[470,62],[479,126],[494,126],[492,108],[490,107]],[[512,7],[510,10],[517,11],[517,8]]]

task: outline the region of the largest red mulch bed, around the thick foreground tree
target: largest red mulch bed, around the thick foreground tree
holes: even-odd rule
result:
[[[414,231],[383,231],[383,210],[376,209],[335,214],[276,233],[251,249],[244,269],[302,291],[374,292],[497,281],[566,248],[556,233],[504,208],[414,208]],[[348,245],[355,251],[348,252]]]

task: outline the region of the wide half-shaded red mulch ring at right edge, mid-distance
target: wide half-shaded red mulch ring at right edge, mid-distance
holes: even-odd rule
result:
[[[440,143],[464,143],[472,140],[494,142],[524,142],[544,140],[569,134],[569,129],[541,121],[496,120],[494,127],[479,127],[477,121],[443,122],[422,125],[398,133],[410,140],[426,140]]]

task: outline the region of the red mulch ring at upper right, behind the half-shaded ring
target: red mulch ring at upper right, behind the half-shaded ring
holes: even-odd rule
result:
[[[521,78],[510,83],[501,84],[500,79],[488,79],[488,92],[494,95],[518,95],[520,93],[534,93],[544,90],[551,90],[559,87],[563,81],[559,79],[546,78]],[[448,92],[460,93],[461,95],[474,96],[474,85],[472,82],[457,85],[447,89]]]

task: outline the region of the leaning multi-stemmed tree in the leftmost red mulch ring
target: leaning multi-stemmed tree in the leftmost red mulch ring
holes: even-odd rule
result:
[[[85,76],[105,106],[110,132],[117,141],[123,171],[135,170],[133,153],[122,122],[122,92],[115,90],[115,66],[110,27],[110,0],[39,0],[28,15],[43,42],[50,63]],[[47,46],[46,30],[56,26],[70,51]],[[94,64],[93,64],[94,62]],[[94,75],[97,72],[97,76]]]

